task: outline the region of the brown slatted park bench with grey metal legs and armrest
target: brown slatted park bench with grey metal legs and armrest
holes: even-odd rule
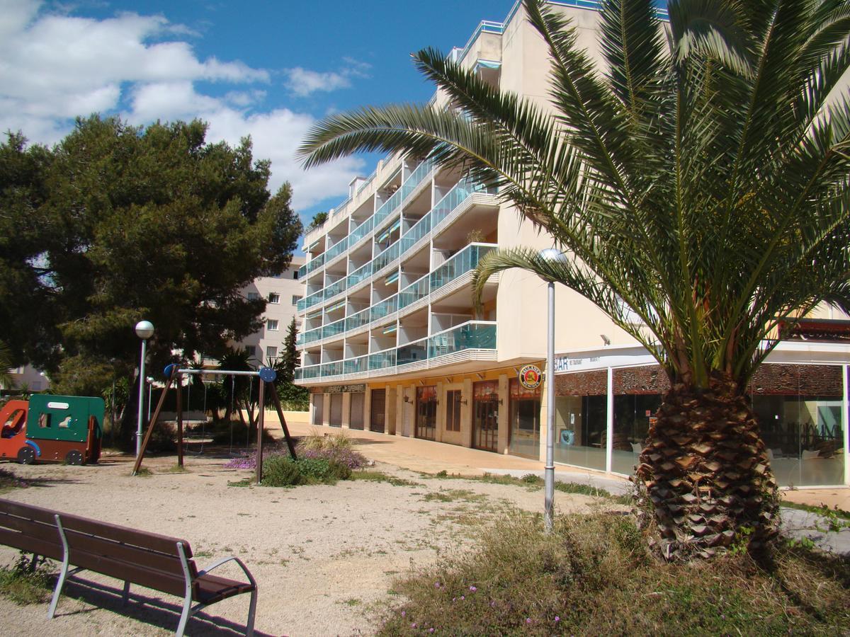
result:
[[[0,544],[62,563],[50,602],[48,618],[54,616],[67,578],[82,570],[99,572],[124,581],[127,603],[130,584],[183,597],[177,634],[184,634],[189,618],[210,606],[242,593],[251,594],[246,634],[253,634],[257,609],[257,583],[237,557],[227,557],[199,571],[184,539],[169,538],[128,527],[89,520],[41,507],[0,499]],[[248,582],[211,575],[212,569],[235,561]],[[71,567],[74,567],[72,570]],[[193,607],[193,603],[195,606]]]

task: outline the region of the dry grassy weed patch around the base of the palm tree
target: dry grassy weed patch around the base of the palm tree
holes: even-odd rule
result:
[[[842,634],[850,563],[787,544],[693,564],[655,561],[630,516],[521,512],[479,547],[396,581],[378,634]],[[433,629],[433,631],[432,631]]]

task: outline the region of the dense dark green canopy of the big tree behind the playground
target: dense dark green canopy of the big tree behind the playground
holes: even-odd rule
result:
[[[220,356],[258,329],[264,301],[239,290],[288,266],[302,226],[249,138],[206,133],[91,116],[53,149],[21,134],[0,145],[0,338],[15,362],[91,392],[98,364],[132,368],[141,318],[157,364]]]

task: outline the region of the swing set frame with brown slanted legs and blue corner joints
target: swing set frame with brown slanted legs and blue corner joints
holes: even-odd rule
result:
[[[277,416],[280,419],[280,427],[283,429],[283,436],[286,440],[286,446],[289,448],[289,454],[292,455],[293,460],[296,459],[295,444],[292,443],[292,437],[289,435],[289,427],[286,426],[286,418],[283,416],[283,409],[280,407],[280,398],[278,397],[277,390],[275,389],[277,372],[275,372],[274,369],[271,369],[270,367],[261,367],[256,371],[232,369],[180,369],[179,365],[170,364],[165,368],[167,381],[162,393],[160,394],[159,403],[156,404],[153,418],[150,419],[148,431],[144,433],[144,440],[142,441],[141,448],[139,449],[139,454],[136,456],[136,463],[133,465],[133,476],[136,476],[139,473],[139,468],[141,467],[142,460],[144,459],[144,452],[147,450],[148,443],[150,442],[150,434],[153,433],[154,426],[156,426],[156,423],[159,420],[162,403],[165,403],[165,397],[168,389],[176,382],[179,390],[179,388],[183,386],[184,375],[219,375],[230,376],[231,378],[234,376],[256,376],[259,379],[259,413],[257,416],[257,484],[263,480],[263,414],[265,413],[266,392],[269,392],[275,402],[275,409],[277,411]],[[177,392],[177,464],[179,466],[183,466],[183,392],[180,391]]]

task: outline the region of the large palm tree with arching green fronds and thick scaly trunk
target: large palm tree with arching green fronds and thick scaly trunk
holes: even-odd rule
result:
[[[525,10],[548,46],[551,108],[426,49],[416,66],[450,107],[331,116],[303,144],[305,164],[430,153],[497,186],[565,259],[490,253],[476,289],[506,268],[567,285],[670,377],[636,476],[660,552],[764,546],[778,496],[748,381],[780,323],[850,305],[850,107],[839,88],[850,7],[672,0],[660,28],[651,0],[605,0],[604,69],[553,8]]]

